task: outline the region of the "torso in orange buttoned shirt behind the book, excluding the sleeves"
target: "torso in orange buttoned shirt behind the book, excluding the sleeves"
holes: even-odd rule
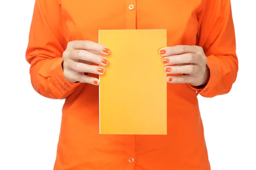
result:
[[[60,3],[67,42],[98,42],[99,29],[167,29],[167,45],[173,46],[197,45],[201,1]],[[55,170],[210,170],[195,91],[168,84],[167,102],[166,136],[100,135],[99,87],[80,85],[63,107]]]

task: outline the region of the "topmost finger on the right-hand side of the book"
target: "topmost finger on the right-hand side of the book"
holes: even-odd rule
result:
[[[203,48],[197,45],[176,45],[172,47],[164,47],[159,50],[162,56],[179,55],[186,53],[201,54]]]

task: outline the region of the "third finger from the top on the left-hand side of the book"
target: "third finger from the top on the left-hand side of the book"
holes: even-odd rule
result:
[[[69,64],[69,69],[80,72],[80,73],[93,73],[102,75],[105,73],[105,69],[103,67],[97,65],[87,65],[81,62],[71,61]]]

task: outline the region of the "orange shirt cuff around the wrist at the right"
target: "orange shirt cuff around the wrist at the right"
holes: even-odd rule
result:
[[[201,94],[201,96],[207,97],[210,94],[214,93],[215,85],[221,77],[221,68],[217,62],[215,62],[215,56],[211,55],[207,57],[207,66],[210,71],[210,77],[208,83],[204,86],[204,88],[196,88],[192,85],[189,85],[190,88],[196,91],[196,96]]]

